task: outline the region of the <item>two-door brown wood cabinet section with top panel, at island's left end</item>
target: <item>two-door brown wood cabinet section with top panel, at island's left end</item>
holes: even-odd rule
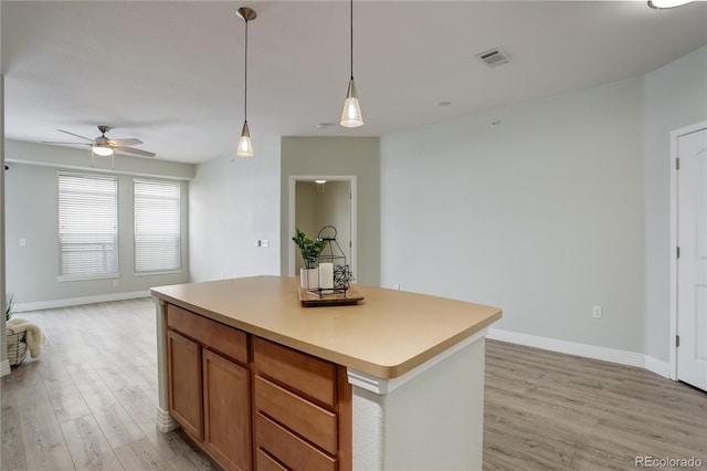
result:
[[[170,415],[224,468],[250,470],[246,335],[173,305],[167,327]]]

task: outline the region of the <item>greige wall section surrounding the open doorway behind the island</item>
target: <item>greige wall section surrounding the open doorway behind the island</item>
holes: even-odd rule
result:
[[[281,168],[281,272],[288,272],[294,228],[289,228],[291,175],[357,176],[356,282],[380,282],[380,156],[378,137],[283,137]]]

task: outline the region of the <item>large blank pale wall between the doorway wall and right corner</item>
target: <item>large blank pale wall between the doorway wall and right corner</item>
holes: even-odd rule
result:
[[[382,137],[381,284],[643,352],[643,116],[635,78]]]

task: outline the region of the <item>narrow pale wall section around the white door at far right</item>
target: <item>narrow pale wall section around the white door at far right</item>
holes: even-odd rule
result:
[[[668,360],[671,247],[669,133],[707,119],[707,46],[645,77],[645,343]]]

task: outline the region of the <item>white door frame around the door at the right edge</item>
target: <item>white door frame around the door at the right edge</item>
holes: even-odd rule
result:
[[[677,139],[688,134],[697,133],[707,128],[707,121],[696,123],[671,132],[671,333],[669,333],[669,368],[668,377],[677,381],[677,345],[675,338],[677,336],[677,212],[678,212],[678,187],[677,187],[677,166],[678,157]]]

